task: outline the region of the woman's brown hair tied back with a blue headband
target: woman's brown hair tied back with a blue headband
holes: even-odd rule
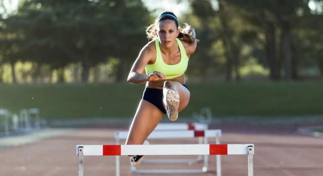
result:
[[[176,15],[173,12],[170,12],[170,11],[165,11],[165,12],[161,13],[156,18],[155,22],[147,27],[146,34],[147,34],[148,39],[154,39],[156,37],[156,34],[155,34],[156,26],[158,25],[158,23],[160,21],[164,21],[164,20],[173,20],[173,21],[175,21],[177,29],[180,30],[178,38],[180,38],[180,39],[182,39],[182,40],[184,40],[186,42],[189,42],[189,43],[199,41],[197,38],[194,38],[192,36],[191,32],[189,31],[191,26],[188,25],[187,23],[184,23],[184,28],[179,27]]]

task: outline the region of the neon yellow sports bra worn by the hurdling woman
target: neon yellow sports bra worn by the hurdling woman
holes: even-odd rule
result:
[[[175,78],[181,76],[185,73],[188,65],[188,57],[185,52],[185,48],[180,39],[176,38],[178,46],[181,51],[181,61],[175,65],[165,64],[163,58],[161,57],[161,52],[159,48],[159,40],[155,40],[156,46],[156,61],[154,64],[148,64],[146,66],[146,73],[149,75],[154,71],[161,72],[166,76],[166,79]]]

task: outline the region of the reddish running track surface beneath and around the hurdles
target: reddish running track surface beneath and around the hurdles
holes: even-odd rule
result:
[[[79,129],[59,137],[43,139],[23,146],[0,148],[0,175],[78,175],[78,157],[75,155],[75,146],[77,144],[114,144],[113,132],[116,130],[127,129]],[[197,139],[150,140],[149,142],[150,144],[196,144]],[[268,129],[259,133],[258,130],[237,130],[236,132],[231,130],[230,132],[225,129],[221,142],[255,144],[254,175],[323,175],[323,138],[291,132],[277,133],[277,131]],[[209,143],[215,143],[215,139],[209,138]],[[155,157],[147,156],[146,158]],[[194,156],[175,157],[194,158]],[[216,175],[215,160],[215,156],[209,156],[207,173],[189,175]],[[185,169],[201,168],[201,166],[202,163],[193,165],[142,163],[138,168]],[[115,175],[115,157],[84,156],[84,175]],[[126,156],[121,156],[121,175],[139,175],[130,172],[129,158]],[[222,155],[222,175],[248,175],[247,156]]]

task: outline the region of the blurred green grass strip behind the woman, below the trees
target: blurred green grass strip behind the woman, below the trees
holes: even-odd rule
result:
[[[187,84],[191,116],[210,107],[213,116],[295,116],[323,114],[323,83]],[[41,118],[74,119],[133,116],[144,84],[0,84],[0,108],[17,113],[38,107]]]

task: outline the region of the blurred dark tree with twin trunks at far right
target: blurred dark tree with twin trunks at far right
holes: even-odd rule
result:
[[[264,33],[264,48],[270,66],[270,78],[279,80],[284,65],[285,80],[297,79],[298,55],[293,32],[297,28],[304,28],[300,24],[305,20],[302,16],[309,12],[308,1],[227,1],[248,12],[246,21],[260,27]]]

